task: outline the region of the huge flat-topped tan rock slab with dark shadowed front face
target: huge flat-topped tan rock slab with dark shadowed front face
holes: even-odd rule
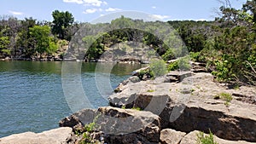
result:
[[[113,107],[140,107],[161,118],[162,128],[201,130],[232,141],[256,141],[255,87],[230,89],[209,73],[175,76],[176,83],[141,81],[109,97]],[[220,95],[232,97],[224,101]],[[219,99],[216,99],[219,98]]]

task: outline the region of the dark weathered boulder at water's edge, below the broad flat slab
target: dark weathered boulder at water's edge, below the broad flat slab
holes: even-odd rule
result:
[[[75,124],[76,123],[76,124]],[[160,118],[152,112],[116,107],[100,107],[97,111],[84,109],[69,118],[63,118],[61,126],[74,130],[84,124],[95,123],[94,131],[102,131],[104,142],[112,144],[158,143]]]

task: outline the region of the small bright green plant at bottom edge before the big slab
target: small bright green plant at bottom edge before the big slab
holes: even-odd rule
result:
[[[218,142],[213,140],[213,134],[211,130],[209,135],[205,135],[203,132],[200,131],[196,136],[196,144],[218,144]]]

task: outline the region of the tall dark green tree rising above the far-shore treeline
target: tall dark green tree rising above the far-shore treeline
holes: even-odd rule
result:
[[[66,39],[67,36],[67,28],[73,24],[74,18],[73,14],[66,12],[60,12],[59,10],[55,10],[52,12],[53,26],[52,33],[57,35],[57,37],[61,39]]]

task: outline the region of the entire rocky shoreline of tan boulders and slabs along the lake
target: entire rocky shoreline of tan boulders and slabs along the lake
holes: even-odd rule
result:
[[[9,135],[0,144],[195,144],[199,131],[209,130],[218,144],[256,143],[255,87],[232,88],[210,73],[169,72],[154,80],[135,74],[119,84],[109,104],[75,112],[59,129]]]

